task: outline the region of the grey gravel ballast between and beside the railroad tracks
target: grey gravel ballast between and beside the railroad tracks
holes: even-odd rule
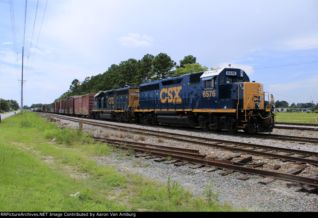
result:
[[[44,115],[44,118],[47,116]],[[108,124],[118,124],[117,122],[99,121],[101,123]],[[77,128],[78,122],[72,122],[69,120],[60,119],[60,123],[64,124],[66,127]],[[121,123],[122,126],[139,126],[133,123]],[[142,129],[155,129],[166,132],[175,132],[179,134],[196,135],[200,137],[208,137],[222,140],[231,140],[239,142],[252,142],[256,144],[265,144],[275,147],[284,147],[292,149],[302,149],[318,152],[318,145],[306,143],[304,145],[298,144],[297,142],[270,140],[270,139],[257,139],[239,136],[230,136],[222,134],[212,134],[212,133],[198,133],[189,132],[180,129],[167,129],[160,126],[146,126],[143,125]],[[91,125],[84,124],[83,129],[85,131],[92,132],[95,136],[109,137],[109,138],[123,138],[124,140],[138,141],[138,135],[120,132],[117,130],[103,129],[100,127],[93,127]],[[299,130],[284,130],[284,129],[274,129],[273,134],[283,134],[283,135],[300,135],[308,137],[318,137],[318,133],[308,131],[301,132]],[[144,143],[152,144],[162,144],[167,146],[179,146],[192,149],[199,149],[201,154],[216,155],[219,157],[226,156],[227,151],[222,149],[212,149],[206,148],[204,146],[198,146],[194,144],[186,144],[183,142],[173,142],[171,140],[164,139],[163,142],[158,142],[158,138],[147,137],[145,140],[141,141]],[[213,152],[213,153],[212,153]],[[242,155],[242,156],[253,156],[253,155]],[[290,169],[292,164],[289,162],[281,163],[278,160],[258,160],[259,157],[253,156],[253,160],[257,162],[268,162],[269,165],[274,165],[279,163],[283,165],[279,171],[283,172]],[[189,164],[176,167],[172,164],[157,163],[153,160],[146,160],[145,158],[135,158],[128,157],[123,154],[114,153],[111,156],[105,157],[94,157],[98,164],[114,166],[116,170],[120,173],[130,172],[138,173],[151,180],[161,181],[163,183],[167,182],[168,176],[170,176],[172,181],[177,181],[181,183],[185,188],[189,189],[194,195],[203,195],[204,185],[208,185],[213,182],[213,190],[216,192],[220,191],[219,200],[221,202],[228,202],[236,208],[248,208],[249,210],[257,211],[318,211],[318,195],[308,194],[303,192],[295,192],[299,187],[287,188],[287,181],[276,179],[267,185],[262,185],[258,183],[263,177],[252,175],[250,179],[242,181],[236,179],[244,174],[239,172],[234,172],[227,176],[221,176],[218,173],[221,170],[216,170],[215,172],[204,172],[205,168],[191,169]],[[306,168],[303,175],[317,173],[317,167],[310,166]],[[300,175],[302,175],[300,174]]]

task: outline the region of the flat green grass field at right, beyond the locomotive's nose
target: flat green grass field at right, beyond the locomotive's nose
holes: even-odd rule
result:
[[[303,122],[303,123],[318,123],[316,122],[318,114],[307,112],[279,112],[275,120],[276,122]]]

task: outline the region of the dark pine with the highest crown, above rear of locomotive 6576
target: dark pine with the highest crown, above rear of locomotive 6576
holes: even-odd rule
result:
[[[171,70],[176,66],[176,62],[172,61],[171,58],[164,53],[158,54],[154,58],[153,64],[154,67],[149,76],[155,80],[170,77],[173,74]]]

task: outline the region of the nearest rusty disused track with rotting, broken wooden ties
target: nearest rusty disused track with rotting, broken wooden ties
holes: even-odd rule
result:
[[[146,157],[146,159],[154,159],[157,162],[164,162],[166,157],[170,156],[173,160],[166,161],[167,164],[174,163],[176,166],[185,165],[188,163],[196,164],[197,167],[192,168],[199,168],[203,166],[210,167],[206,171],[211,172],[217,168],[226,169],[227,174],[232,173],[234,171],[242,172],[245,174],[253,174],[253,175],[260,175],[269,177],[269,180],[273,180],[271,178],[283,179],[292,182],[300,182],[308,185],[312,185],[314,187],[318,186],[318,175],[314,177],[306,177],[306,176],[299,176],[293,175],[290,173],[281,173],[281,172],[274,172],[270,170],[264,169],[256,169],[256,167],[263,166],[266,163],[258,163],[258,164],[250,164],[248,166],[242,166],[244,164],[240,162],[233,162],[228,160],[216,160],[211,158],[204,158],[203,156],[198,155],[198,150],[194,149],[186,149],[180,150],[180,148],[176,147],[168,147],[168,146],[161,146],[161,145],[153,145],[153,144],[146,144],[140,142],[131,142],[125,140],[117,140],[117,139],[109,139],[109,138],[100,138],[95,137],[95,140],[100,142],[107,142],[110,145],[115,146],[116,148],[120,149],[133,149],[135,153],[127,154],[127,155],[135,155],[135,157]],[[162,149],[158,149],[162,148]],[[301,166],[302,168],[305,168]],[[226,175],[227,175],[226,174]],[[245,176],[246,177],[246,176]],[[317,187],[318,188],[318,187]],[[314,188],[315,189],[315,188]]]

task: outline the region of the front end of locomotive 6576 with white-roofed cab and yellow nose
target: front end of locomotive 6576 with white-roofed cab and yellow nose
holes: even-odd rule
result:
[[[200,127],[226,129],[229,132],[243,129],[249,133],[273,130],[273,109],[265,108],[263,84],[251,83],[244,70],[214,67],[200,78],[204,87],[202,98],[210,100],[205,100],[208,105],[202,106],[220,110],[220,113],[199,117]]]

